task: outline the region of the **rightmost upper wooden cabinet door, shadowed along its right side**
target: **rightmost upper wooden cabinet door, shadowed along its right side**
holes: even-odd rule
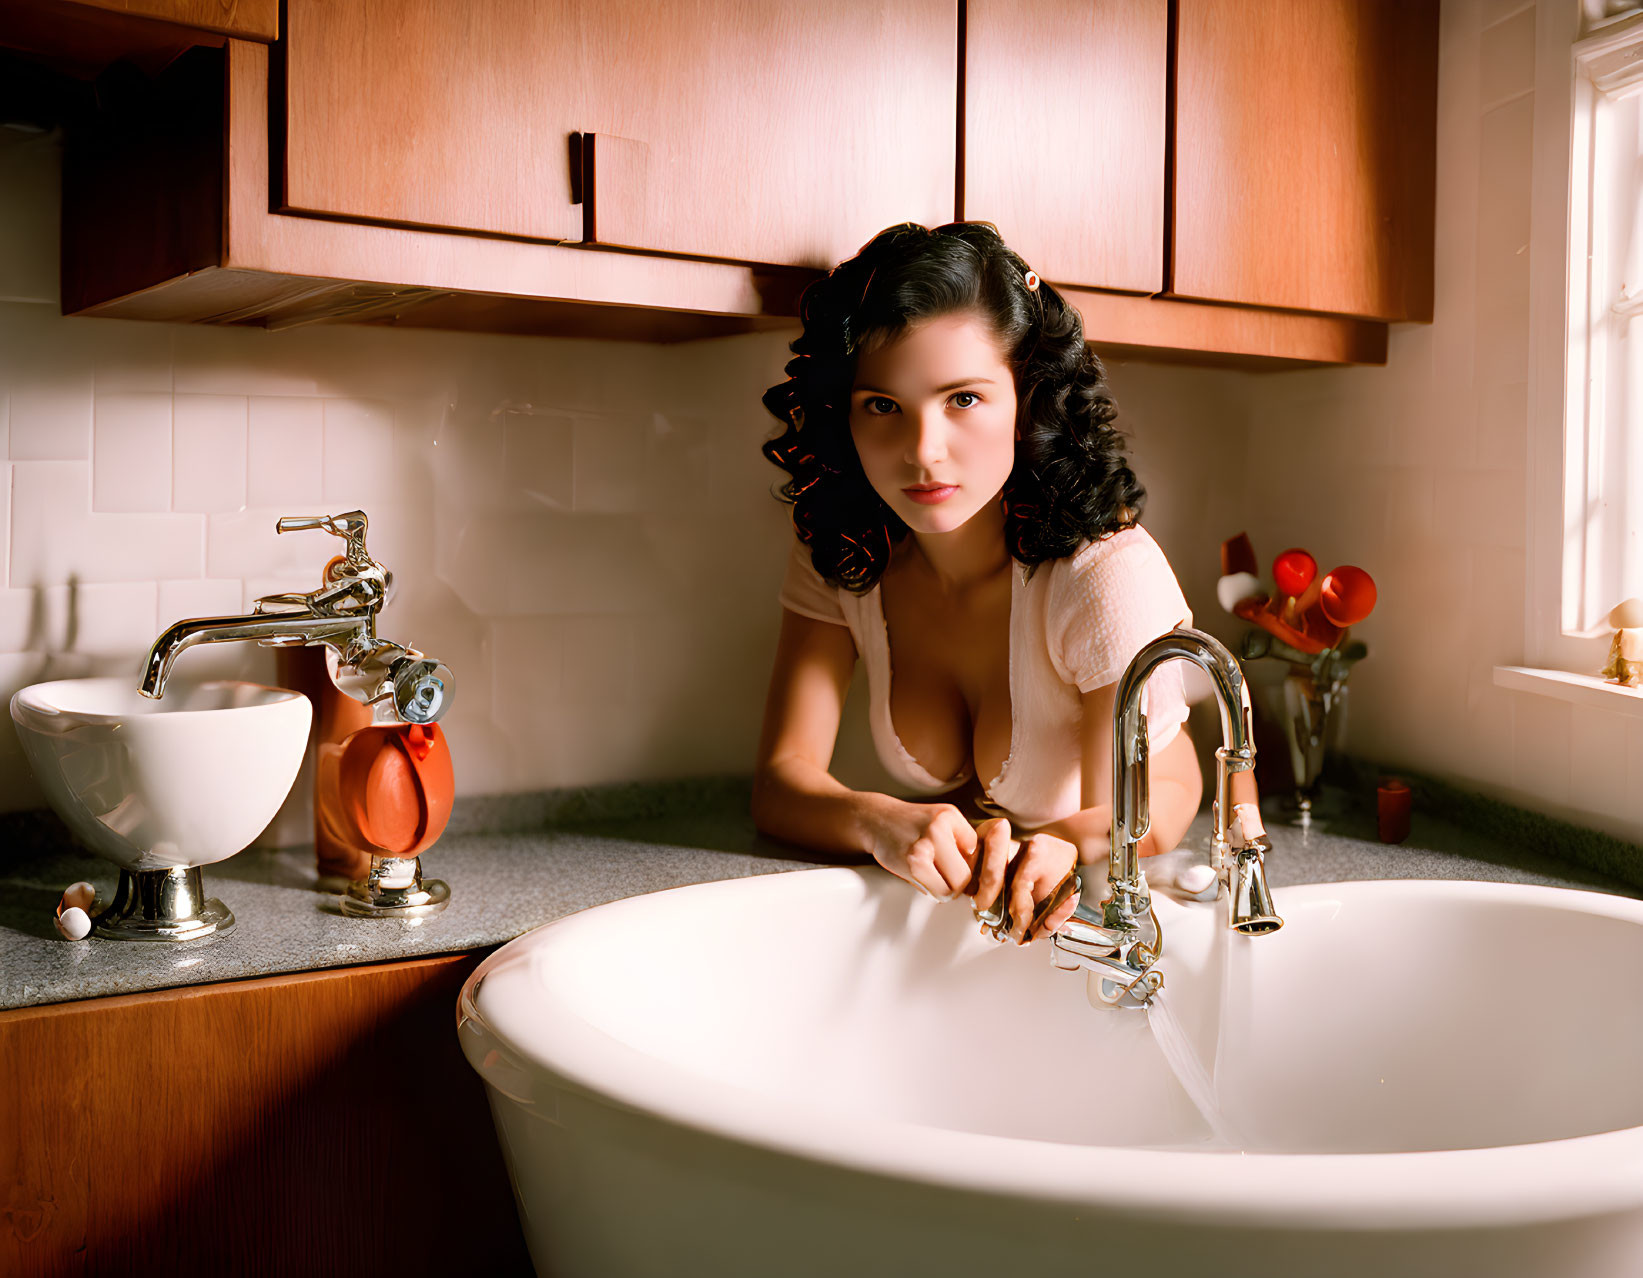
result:
[[[1434,0],[1178,0],[1178,297],[1431,319]]]

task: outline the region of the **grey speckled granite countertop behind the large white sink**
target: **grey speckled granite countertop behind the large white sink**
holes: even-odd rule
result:
[[[679,787],[675,785],[677,792]],[[564,915],[619,897],[711,879],[871,864],[866,857],[822,857],[759,834],[748,816],[746,784],[706,784],[692,802],[657,803],[644,787],[614,805],[555,805],[470,800],[445,838],[424,857],[427,877],[450,885],[450,905],[424,920],[347,918],[315,890],[314,853],[245,851],[207,866],[207,895],[233,910],[225,936],[186,945],[66,941],[53,926],[62,889],[77,879],[112,899],[118,871],[79,851],[51,813],[7,818],[8,853],[0,867],[0,1010],[59,1004],[210,981],[348,968],[363,963],[486,949]],[[1326,800],[1329,795],[1326,795]],[[1643,895],[1599,869],[1543,851],[1544,839],[1503,838],[1495,823],[1444,820],[1416,810],[1403,844],[1375,839],[1374,816],[1344,793],[1328,830],[1282,825],[1273,803],[1267,823],[1267,879],[1285,884],[1346,879],[1485,879]],[[626,807],[628,811],[613,811]],[[521,820],[532,828],[519,828]],[[486,831],[486,823],[506,833]],[[1181,848],[1147,866],[1165,869],[1203,859],[1211,828],[1199,813]],[[1278,894],[1282,907],[1282,892]]]

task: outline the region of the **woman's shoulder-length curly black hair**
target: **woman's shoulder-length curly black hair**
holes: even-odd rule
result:
[[[1027,287],[1027,263],[989,222],[889,227],[810,283],[787,381],[762,396],[785,430],[761,452],[792,478],[775,493],[828,583],[863,595],[909,532],[868,483],[849,435],[856,356],[910,325],[951,314],[986,322],[1015,375],[1015,465],[1004,485],[1004,536],[1029,565],[1134,524],[1147,493],[1124,460],[1106,370],[1084,322],[1053,287]]]

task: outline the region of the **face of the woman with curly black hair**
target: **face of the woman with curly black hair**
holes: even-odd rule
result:
[[[996,503],[1015,463],[1015,378],[981,319],[925,320],[861,355],[849,435],[914,532],[951,532]]]

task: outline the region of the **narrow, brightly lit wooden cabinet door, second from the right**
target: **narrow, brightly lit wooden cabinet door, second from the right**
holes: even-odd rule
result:
[[[969,0],[963,217],[1045,279],[1163,289],[1168,0]]]

